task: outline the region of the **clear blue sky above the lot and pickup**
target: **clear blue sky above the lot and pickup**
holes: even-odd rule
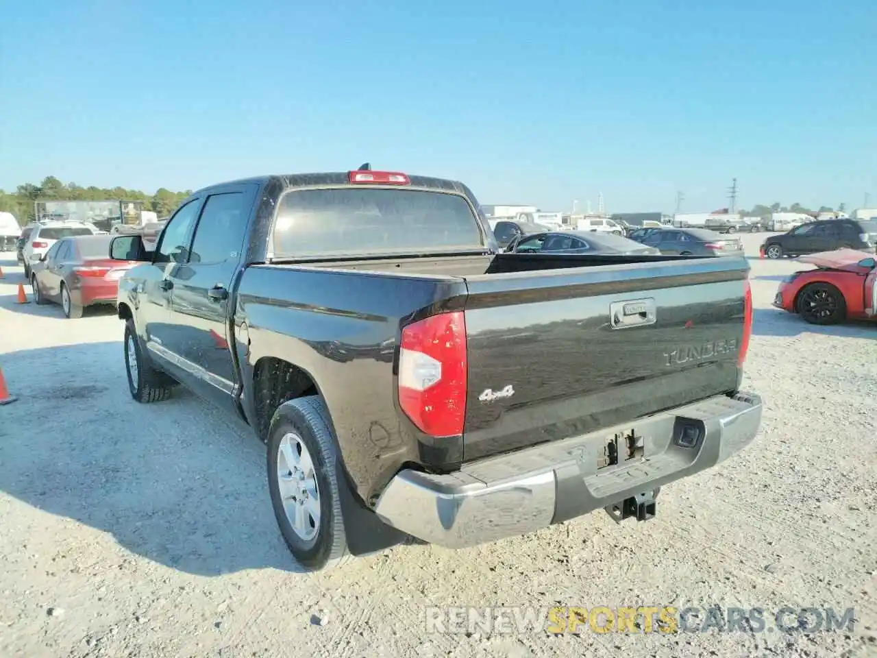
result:
[[[875,25],[874,0],[13,3],[0,188],[371,161],[544,210],[709,211],[735,176],[745,207],[877,205]]]

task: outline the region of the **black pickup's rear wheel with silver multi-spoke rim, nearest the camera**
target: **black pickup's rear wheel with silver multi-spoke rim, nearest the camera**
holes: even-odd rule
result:
[[[346,480],[339,472],[336,445],[321,397],[290,400],[271,418],[267,440],[271,505],[289,552],[311,571],[353,559],[341,511],[340,487],[346,486]],[[317,503],[309,503],[314,497]],[[301,516],[296,514],[299,509]]]

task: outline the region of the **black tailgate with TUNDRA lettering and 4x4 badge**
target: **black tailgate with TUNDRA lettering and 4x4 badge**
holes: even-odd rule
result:
[[[464,458],[738,389],[743,258],[467,276]]]

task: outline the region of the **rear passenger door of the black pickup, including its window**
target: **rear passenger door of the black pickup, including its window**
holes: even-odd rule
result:
[[[171,276],[172,347],[189,383],[203,397],[234,405],[232,283],[243,261],[244,240],[258,186],[224,188],[204,200],[187,261]]]

